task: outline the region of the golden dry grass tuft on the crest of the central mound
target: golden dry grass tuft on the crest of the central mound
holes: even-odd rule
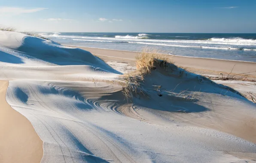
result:
[[[171,67],[170,63],[173,63],[173,61],[161,52],[148,48],[143,49],[136,58],[137,69],[145,69],[146,74],[159,67],[168,69]]]

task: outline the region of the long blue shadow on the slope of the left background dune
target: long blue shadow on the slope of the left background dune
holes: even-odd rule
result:
[[[50,42],[30,36],[25,37],[23,42],[24,43],[17,48],[17,51],[28,55],[28,57],[33,57],[60,66],[88,65],[101,68],[106,72],[122,74],[100,58],[91,54],[91,52],[80,48],[65,47],[56,42]]]

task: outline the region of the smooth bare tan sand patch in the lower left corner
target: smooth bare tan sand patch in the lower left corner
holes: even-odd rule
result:
[[[23,115],[6,102],[8,81],[0,81],[0,163],[39,163],[43,142]]]

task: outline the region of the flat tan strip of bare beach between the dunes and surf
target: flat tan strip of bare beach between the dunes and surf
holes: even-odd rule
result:
[[[108,50],[99,48],[84,48],[86,51],[90,51],[92,54],[97,55],[105,61],[117,61],[127,62],[134,65],[134,60],[137,56],[137,52],[132,51],[118,51]],[[233,60],[218,60],[218,59],[207,59],[207,58],[196,58],[196,57],[182,57],[168,55],[172,58],[176,65],[187,67],[190,71],[195,73],[219,75],[219,73],[229,73],[233,66],[233,73],[245,73],[252,72],[251,75],[256,77],[256,63],[253,62],[241,62]],[[254,71],[254,72],[253,72]]]

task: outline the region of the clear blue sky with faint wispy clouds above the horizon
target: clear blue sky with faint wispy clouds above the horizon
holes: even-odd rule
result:
[[[256,33],[256,0],[0,0],[25,32]]]

